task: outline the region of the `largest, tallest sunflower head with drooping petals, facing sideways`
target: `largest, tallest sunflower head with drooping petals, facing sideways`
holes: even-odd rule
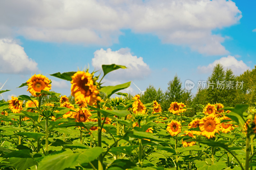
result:
[[[97,90],[96,85],[93,85],[92,75],[88,72],[77,71],[72,76],[71,94],[75,97],[75,100],[79,100],[87,104],[92,105],[95,100],[100,101],[100,96],[97,96],[100,92]]]

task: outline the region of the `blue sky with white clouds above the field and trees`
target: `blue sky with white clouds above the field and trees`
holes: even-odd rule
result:
[[[70,94],[70,82],[49,74],[101,64],[121,64],[104,81],[133,81],[164,92],[175,74],[207,80],[215,63],[242,74],[256,64],[256,2],[225,0],[0,1],[0,87],[16,88],[31,75],[52,80],[52,90]],[[125,92],[139,93],[132,84]],[[196,93],[196,87],[192,90]]]

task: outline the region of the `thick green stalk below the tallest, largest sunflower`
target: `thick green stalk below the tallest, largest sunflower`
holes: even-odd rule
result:
[[[100,101],[97,101],[97,108],[100,108]],[[101,147],[101,113],[97,111],[98,114],[98,146]],[[98,170],[103,170],[103,159],[102,154],[100,154],[98,159]]]

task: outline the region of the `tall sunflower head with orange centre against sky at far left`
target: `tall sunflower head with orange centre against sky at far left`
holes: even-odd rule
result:
[[[37,97],[36,92],[41,92],[41,90],[50,91],[52,87],[50,83],[51,81],[47,77],[41,74],[35,74],[27,81],[27,91],[29,91],[33,96]],[[39,96],[41,96],[41,94]]]

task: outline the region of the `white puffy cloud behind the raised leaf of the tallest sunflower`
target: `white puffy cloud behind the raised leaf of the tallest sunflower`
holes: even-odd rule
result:
[[[129,48],[121,48],[117,51],[112,51],[110,48],[96,50],[94,58],[92,58],[92,66],[99,70],[102,64],[117,64],[127,67],[127,69],[118,69],[109,73],[108,79],[111,80],[130,81],[144,78],[150,73],[149,66],[144,63],[143,58],[132,55]]]

